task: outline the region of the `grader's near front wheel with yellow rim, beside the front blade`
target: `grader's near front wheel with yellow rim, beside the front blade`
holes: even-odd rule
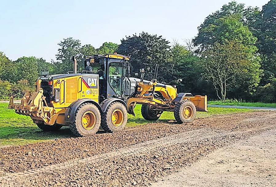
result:
[[[177,123],[192,123],[196,116],[196,107],[189,100],[181,101],[175,105],[174,117]]]

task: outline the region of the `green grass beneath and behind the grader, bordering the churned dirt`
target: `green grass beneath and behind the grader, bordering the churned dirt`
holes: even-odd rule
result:
[[[22,145],[27,143],[49,141],[58,138],[68,138],[72,134],[68,127],[62,127],[57,132],[42,132],[28,116],[18,115],[13,110],[7,109],[7,103],[0,103],[0,146]],[[136,116],[128,115],[127,127],[151,123],[143,119],[141,105],[135,108]],[[248,109],[232,108],[208,108],[209,112],[198,112],[197,118],[207,117],[215,114],[229,114],[236,112],[247,112]],[[174,119],[172,112],[164,112],[158,122]]]

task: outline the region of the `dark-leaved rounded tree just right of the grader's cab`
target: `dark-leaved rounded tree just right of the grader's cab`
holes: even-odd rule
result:
[[[139,72],[140,68],[145,68],[145,79],[153,78],[156,64],[160,67],[158,80],[171,79],[170,46],[162,36],[145,32],[133,34],[121,40],[118,53],[131,56],[132,72]]]

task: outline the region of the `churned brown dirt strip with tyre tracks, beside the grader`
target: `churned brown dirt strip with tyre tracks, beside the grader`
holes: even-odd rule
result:
[[[275,129],[276,113],[259,111],[6,147],[0,149],[0,186],[155,185],[183,169],[192,171],[208,155],[223,157],[215,151]]]

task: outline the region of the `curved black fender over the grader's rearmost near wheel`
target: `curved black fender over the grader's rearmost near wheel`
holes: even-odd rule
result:
[[[77,108],[82,104],[82,103],[92,103],[94,104],[99,111],[102,113],[102,109],[101,106],[93,101],[92,99],[78,99],[76,101],[74,101],[73,103],[70,104],[70,106],[67,108],[67,110],[65,111],[65,121],[67,123],[73,123],[75,120],[75,113],[77,111]]]

